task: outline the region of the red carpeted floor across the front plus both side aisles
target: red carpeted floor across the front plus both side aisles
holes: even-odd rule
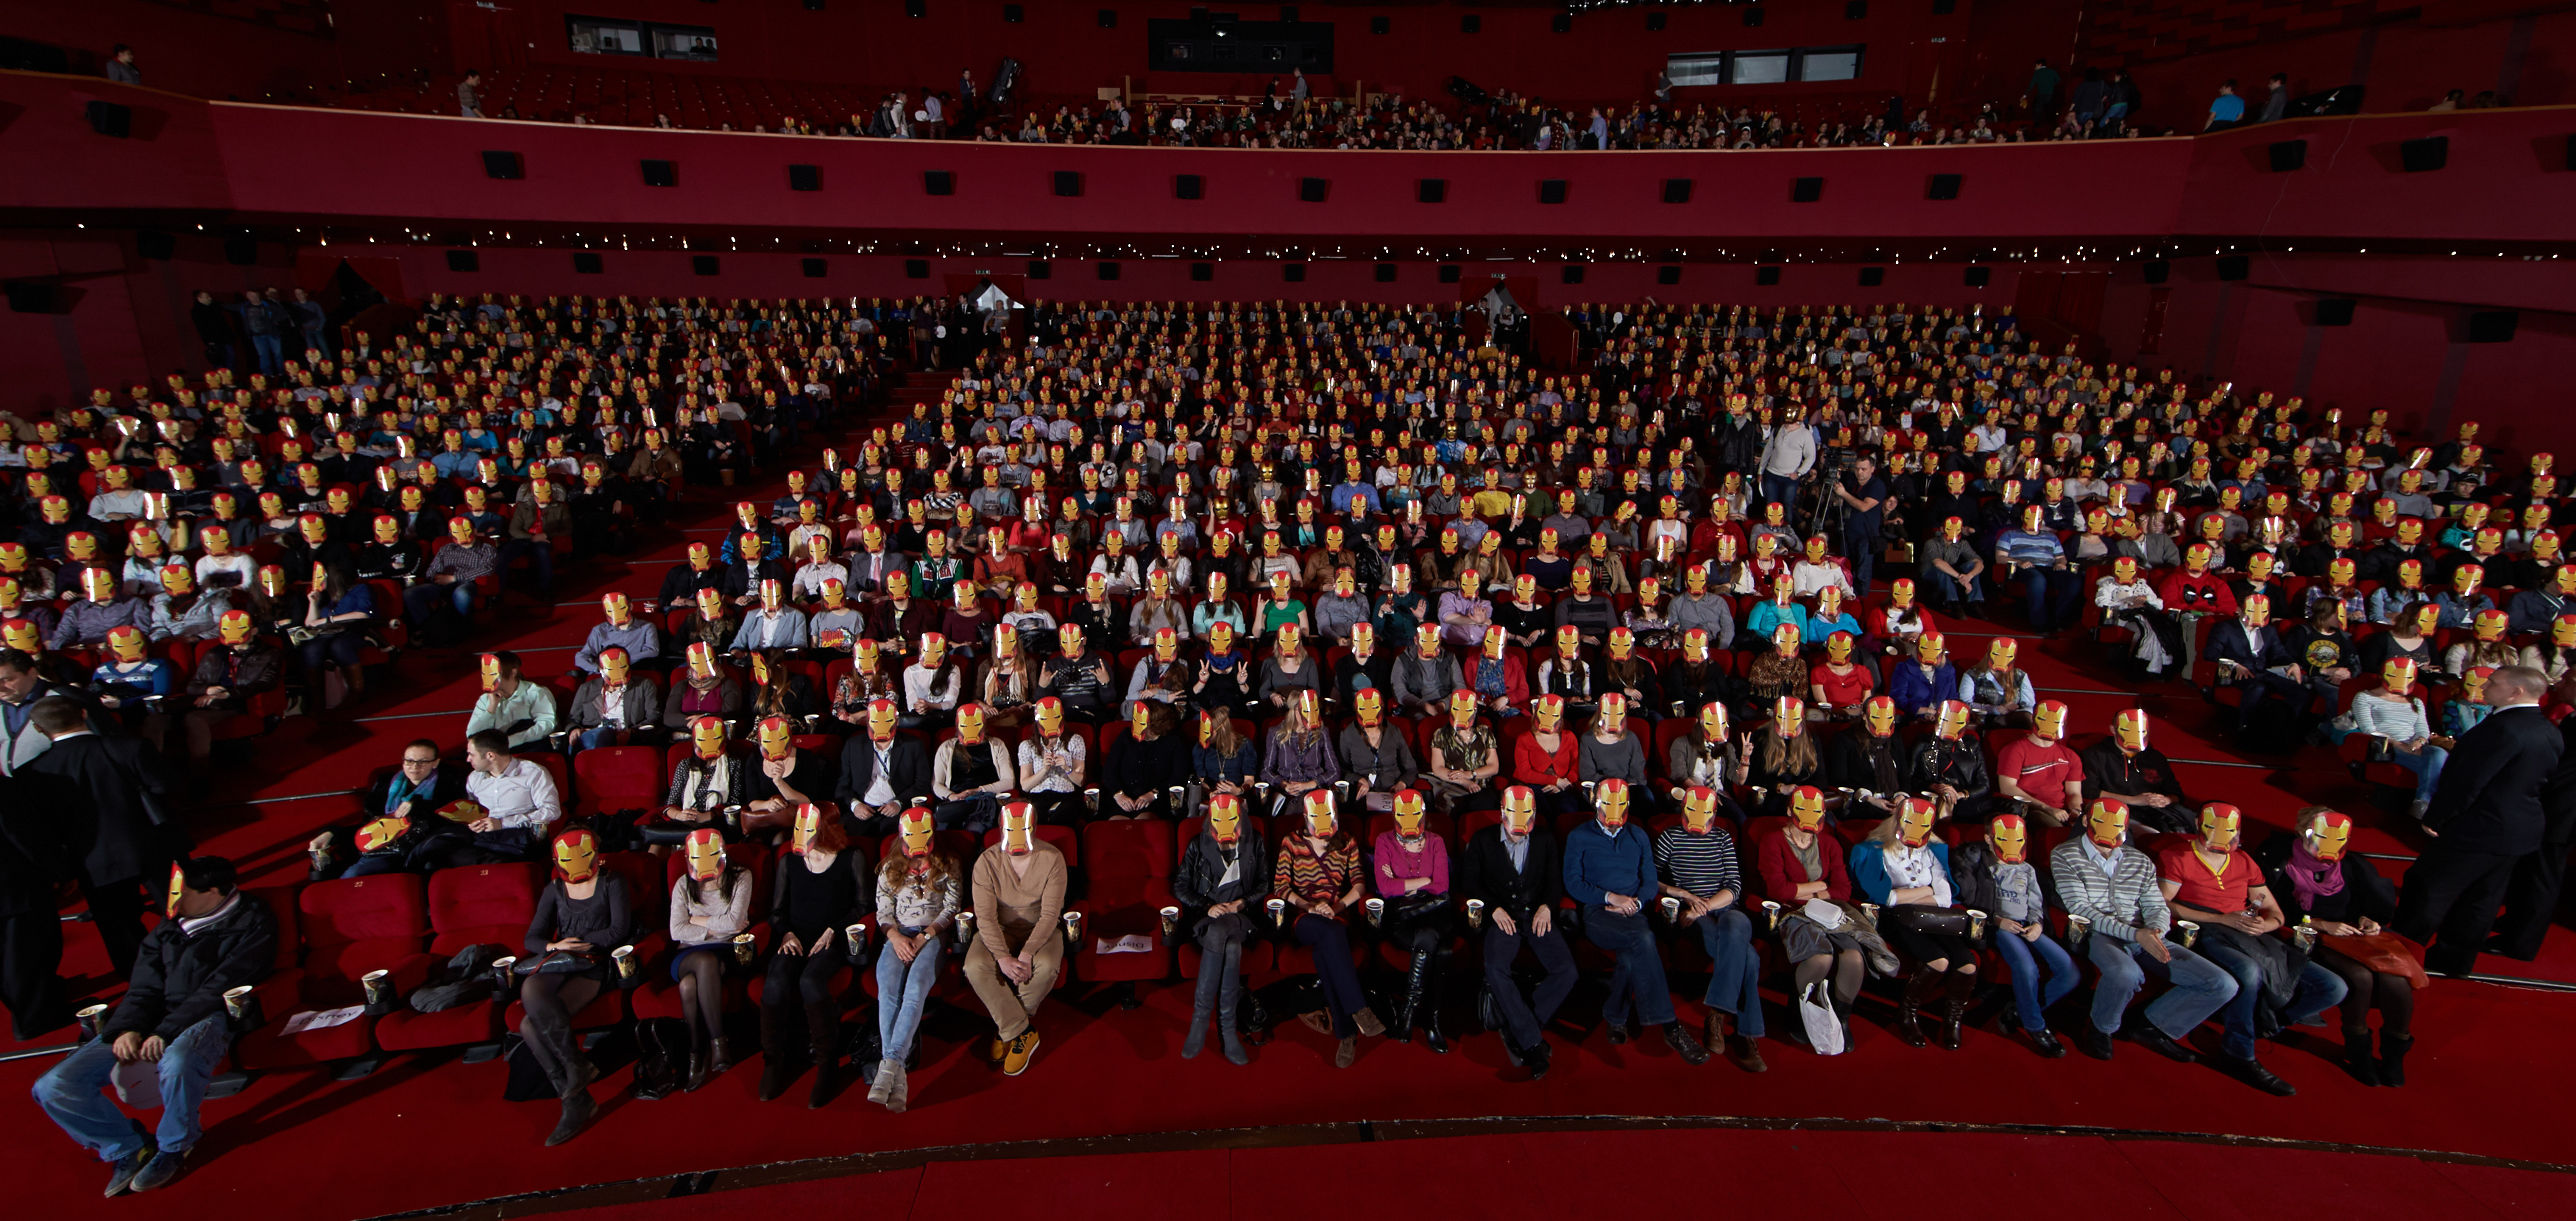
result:
[[[768,500],[773,489],[744,489]],[[721,531],[714,502],[683,528],[706,538]],[[531,670],[569,665],[572,647],[595,618],[603,590],[649,592],[675,562],[685,533],[665,531],[634,556],[595,556],[569,574],[556,608],[515,600],[487,618],[477,649],[510,647]],[[2007,631],[1960,623],[1953,636]],[[1965,652],[1960,649],[1960,652]],[[379,675],[355,719],[317,724],[291,719],[260,742],[252,762],[206,775],[196,819],[204,853],[240,860],[252,884],[301,876],[304,840],[348,814],[348,788],[389,762],[412,737],[453,744],[474,701],[471,652],[412,652]],[[2130,690],[2079,639],[2025,644],[2025,665],[2045,696],[2074,708],[2079,734],[2102,732],[2112,711],[2143,703],[2156,714],[2156,744],[2182,765],[2195,796],[2228,799],[2257,822],[2280,827],[2311,801],[2360,814],[2362,850],[2411,853],[2406,835],[2370,806],[2365,791],[2324,750],[2295,760],[2241,760],[2205,729],[2213,711],[2195,690],[2161,683]],[[2385,868],[2403,868],[2385,863]],[[67,925],[75,987],[106,992],[106,963],[88,925]],[[2540,963],[2496,963],[2522,974],[2576,981],[2576,938],[2550,938]],[[1685,989],[1692,984],[1682,984]],[[1079,987],[1072,999],[1079,1002]],[[1597,1015],[1597,984],[1577,992],[1569,1018]],[[237,1097],[206,1108],[209,1136],[188,1175],[165,1200],[116,1208],[258,1208],[268,1216],[376,1216],[489,1200],[592,1182],[639,1180],[688,1169],[840,1157],[886,1149],[961,1146],[1103,1133],[1195,1133],[1285,1123],[1432,1121],[1473,1115],[1747,1115],[1747,1118],[1888,1118],[2009,1126],[2084,1126],[2138,1133],[2236,1133],[2380,1149],[2434,1149],[2532,1162],[2576,1162],[2555,1108],[2527,1113],[2519,1100],[2576,1095],[2576,1046],[2563,1038],[2576,997],[2439,981],[2421,997],[2406,1090],[2362,1090],[2326,1056],[2329,1030],[2293,1033],[2264,1061],[2298,1084],[2277,1100],[2205,1066],[2177,1066],[2123,1046],[2112,1064],[2081,1056],[2040,1061],[1991,1025],[1955,1054],[1909,1051],[1883,1025],[1886,1002],[1862,1002],[1860,1046],[1842,1059],[1816,1059],[1790,1043],[1765,1046],[1772,1072],[1744,1077],[1723,1061],[1682,1066],[1662,1041],[1623,1048],[1589,1033],[1561,1046],[1556,1072],[1528,1082],[1510,1069],[1494,1038],[1461,1041],[1450,1056],[1419,1043],[1370,1041],[1360,1064],[1332,1072],[1332,1048],[1288,1023],[1247,1069],[1218,1056],[1180,1061],[1188,994],[1177,984],[1144,989],[1144,1007],[1100,1018],[1051,1002],[1036,1066],[1005,1079],[966,1043],[935,1038],[914,1074],[914,1110],[886,1115],[860,1092],[822,1113],[788,1100],[752,1097],[760,1061],[696,1095],[659,1103],[618,1097],[600,1121],[562,1149],[538,1141],[554,1103],[502,1103],[502,1064],[456,1064],[453,1056],[394,1059],[374,1077],[330,1082],[325,1074],[270,1074]],[[1772,1028],[1785,1028],[1772,997]],[[2213,1030],[2215,1033],[2215,1030]],[[2210,1033],[2210,1036],[2213,1036]],[[747,1043],[747,1041],[744,1041]],[[10,1051],[0,1046],[0,1051]],[[88,1208],[100,1169],[26,1103],[26,1090],[52,1059],[0,1064],[0,1182],[10,1182],[26,1216]],[[626,1084],[626,1069],[603,1077],[600,1092]],[[1687,1164],[1690,1172],[1654,1172]],[[811,1188],[765,1188],[781,1203],[806,1198],[868,1211],[958,1208],[994,1200],[984,1164],[933,1164],[896,1175],[845,1177]],[[1935,1216],[1991,1216],[2020,1206],[2058,1211],[2056,1195],[2081,1198],[2110,1216],[2267,1216],[2316,1211],[2352,1216],[2568,1216],[2568,1177],[2434,1167],[2416,1159],[2223,1149],[2200,1144],[1935,1136],[1935,1133],[1618,1133],[1512,1136],[1494,1141],[1386,1144],[1355,1149],[1188,1151],[1128,1159],[1036,1159],[1010,1167],[1012,1188],[1061,1188],[1069,1216],[1118,1211],[1154,1216],[1206,1200],[1231,1200],[1234,1216],[1311,1213],[1303,1195],[1334,1185],[1345,1206],[1455,1206],[1494,1213],[1564,1213],[1602,1206],[1883,1206]],[[1316,1180],[1314,1172],[1332,1172]],[[1790,1169],[1790,1172],[1783,1172]],[[1643,1175],[1631,1180],[1633,1175]],[[1929,1188],[1927,1182],[1940,1182]],[[1182,1185],[1188,1190],[1182,1190]],[[1929,1195],[1891,1195],[1917,1185]],[[1360,1190],[1350,1190],[1360,1188]],[[1994,1195],[1991,1208],[1984,1193]],[[829,1195],[817,1195],[829,1193]],[[1221,1195],[1218,1195],[1221,1193]],[[1363,1195],[1365,1193],[1365,1195]],[[1976,1198],[1978,1203],[1971,1203]],[[2115,1198],[2115,1200],[2112,1200]],[[750,1198],[742,1198],[752,1203]],[[1530,1206],[1522,1206],[1522,1203]],[[1618,1200],[1618,1203],[1613,1203]],[[734,1203],[734,1200],[726,1200]],[[690,1208],[690,1203],[675,1203]],[[513,1213],[528,1206],[513,1206]],[[649,1208],[631,1208],[634,1216]]]

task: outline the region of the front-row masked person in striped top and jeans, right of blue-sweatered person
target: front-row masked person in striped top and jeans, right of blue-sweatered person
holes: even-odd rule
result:
[[[1762,1072],[1762,951],[1754,951],[1754,922],[1744,914],[1744,878],[1736,871],[1736,837],[1718,827],[1718,793],[1692,788],[1682,801],[1682,822],[1654,837],[1654,873],[1664,899],[1680,902],[1674,925],[1698,927],[1713,963],[1708,976],[1708,1046],[1744,1072]],[[1734,1038],[1721,1038],[1718,1015],[1736,1020]]]

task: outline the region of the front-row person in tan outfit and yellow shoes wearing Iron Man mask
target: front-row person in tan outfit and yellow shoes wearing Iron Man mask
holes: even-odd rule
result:
[[[966,984],[984,999],[1002,1046],[1002,1074],[1018,1077],[1038,1051],[1030,1020],[1064,963],[1064,853],[1038,840],[1028,801],[1002,806],[1002,842],[974,863],[974,945]]]

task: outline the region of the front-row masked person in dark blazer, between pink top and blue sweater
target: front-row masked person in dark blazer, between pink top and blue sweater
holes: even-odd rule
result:
[[[1548,1074],[1546,1025],[1574,992],[1574,951],[1556,925],[1556,899],[1566,894],[1566,871],[1556,858],[1556,837],[1538,824],[1538,793],[1512,786],[1502,793],[1502,822],[1479,829],[1466,842],[1458,866],[1458,894],[1484,902],[1484,987],[1502,1012],[1502,1048],[1512,1064],[1525,1064],[1530,1079]],[[1546,971],[1528,999],[1512,981],[1512,963],[1528,945]]]

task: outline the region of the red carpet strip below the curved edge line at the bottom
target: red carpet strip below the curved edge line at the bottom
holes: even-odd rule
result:
[[[683,1221],[708,1208],[956,1218],[997,1193],[1054,1221],[1303,1221],[1319,1198],[1412,1216],[2264,1216],[2555,1218],[2576,1177],[2406,1157],[2097,1136],[1561,1131],[1288,1149],[930,1162],[912,1169],[556,1213]]]

